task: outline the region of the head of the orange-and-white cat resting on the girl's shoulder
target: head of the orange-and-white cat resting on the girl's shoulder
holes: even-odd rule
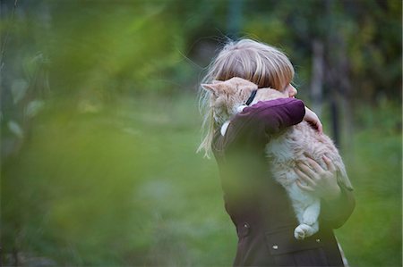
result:
[[[214,120],[219,124],[227,121],[237,113],[237,108],[247,101],[253,90],[258,87],[253,82],[234,77],[225,81],[215,80],[211,84],[202,84],[202,88],[210,91],[210,108]]]

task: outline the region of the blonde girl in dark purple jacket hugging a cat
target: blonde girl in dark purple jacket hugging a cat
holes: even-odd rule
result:
[[[224,46],[203,82],[233,77],[289,96],[244,108],[222,135],[219,129],[224,121],[213,112],[210,92],[201,93],[206,135],[199,150],[207,156],[212,150],[219,165],[225,207],[238,236],[234,265],[343,266],[333,229],[347,221],[355,200],[347,188],[338,184],[334,165],[324,158],[327,169],[309,161],[296,170],[303,181],[299,187],[319,196],[322,202],[320,230],[304,240],[294,238],[298,222],[285,189],[267,177],[264,148],[270,137],[302,120],[322,132],[316,114],[294,97],[297,91],[290,84],[294,77],[292,64],[275,47],[241,39]]]

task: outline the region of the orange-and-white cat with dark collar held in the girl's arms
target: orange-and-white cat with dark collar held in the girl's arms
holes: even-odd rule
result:
[[[254,90],[256,93],[250,104],[288,97],[272,88],[258,89],[253,82],[237,77],[226,81],[214,81],[212,84],[202,84],[201,87],[211,93],[214,120],[221,127],[222,136],[226,134],[231,118],[236,113],[242,112],[247,106],[245,105],[247,100],[251,101],[248,98],[252,98],[250,96]],[[304,239],[312,236],[319,230],[321,200],[298,187],[296,164],[305,163],[307,157],[310,157],[322,168],[327,169],[322,159],[323,155],[326,155],[336,167],[339,184],[352,189],[338,149],[328,136],[313,129],[308,122],[302,121],[272,137],[265,147],[265,152],[273,179],[286,189],[296,213],[299,225],[294,230],[294,237]]]

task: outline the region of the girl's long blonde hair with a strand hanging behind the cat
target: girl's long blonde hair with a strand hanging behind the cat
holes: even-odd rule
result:
[[[278,48],[252,39],[241,39],[224,46],[210,63],[201,83],[233,77],[248,79],[258,85],[258,88],[283,90],[294,78],[294,68],[287,55]],[[205,137],[197,151],[204,150],[207,157],[210,155],[214,132],[220,126],[214,121],[210,99],[210,92],[201,89],[199,104],[201,113],[204,113],[202,129]]]

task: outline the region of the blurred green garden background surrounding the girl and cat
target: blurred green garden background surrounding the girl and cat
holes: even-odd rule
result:
[[[1,263],[228,266],[198,85],[228,38],[282,49],[356,188],[351,266],[401,266],[400,0],[1,0]]]

